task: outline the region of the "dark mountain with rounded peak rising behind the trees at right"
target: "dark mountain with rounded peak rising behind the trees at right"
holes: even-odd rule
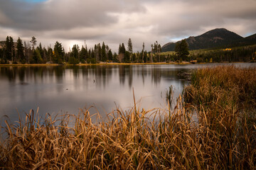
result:
[[[231,32],[225,28],[216,28],[196,37],[185,39],[189,50],[198,50],[215,47],[232,47],[236,45],[256,44],[256,34],[247,38]],[[178,41],[181,42],[181,41]],[[162,47],[162,52],[174,51],[176,42],[169,42]]]

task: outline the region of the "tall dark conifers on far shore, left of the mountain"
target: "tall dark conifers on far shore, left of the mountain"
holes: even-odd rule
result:
[[[88,63],[96,64],[100,62],[165,62],[161,60],[161,45],[156,41],[151,45],[151,51],[146,52],[144,42],[141,52],[133,52],[132,40],[129,38],[127,48],[124,43],[119,44],[118,53],[112,52],[110,47],[102,42],[88,48],[85,44],[82,47],[73,45],[72,49],[65,52],[60,42],[56,41],[54,47],[42,47],[41,42],[37,45],[37,40],[33,36],[29,42],[18,38],[16,42],[11,36],[1,42],[0,62],[1,64],[43,64],[43,63]]]

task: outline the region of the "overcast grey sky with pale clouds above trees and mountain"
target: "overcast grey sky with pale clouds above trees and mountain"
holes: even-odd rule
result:
[[[164,45],[214,28],[242,37],[256,33],[256,0],[0,0],[0,40],[35,36],[74,44],[103,41],[115,52],[132,38],[134,52],[156,40]]]

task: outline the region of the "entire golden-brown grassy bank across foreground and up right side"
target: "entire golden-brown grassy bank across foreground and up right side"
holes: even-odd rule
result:
[[[25,122],[6,122],[2,129],[0,167],[255,169],[255,79],[255,69],[199,69],[174,110],[134,104],[97,123],[92,118],[99,116],[86,110],[57,118],[31,111]]]

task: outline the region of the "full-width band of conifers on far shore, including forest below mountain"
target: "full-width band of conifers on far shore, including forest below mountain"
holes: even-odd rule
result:
[[[65,52],[60,42],[56,41],[52,47],[42,47],[41,42],[33,36],[29,42],[23,42],[18,38],[16,42],[11,36],[0,42],[0,63],[1,64],[43,64],[43,63],[87,63],[97,64],[100,62],[117,63],[150,63],[150,62],[255,62],[256,45],[233,47],[232,49],[215,50],[192,50],[188,51],[186,40],[176,43],[175,52],[161,52],[159,42],[151,44],[151,50],[145,50],[144,42],[142,51],[134,52],[132,40],[129,38],[127,48],[124,43],[119,44],[118,53],[112,52],[110,47],[102,42],[94,47],[87,48],[87,45],[73,45],[72,49]]]

